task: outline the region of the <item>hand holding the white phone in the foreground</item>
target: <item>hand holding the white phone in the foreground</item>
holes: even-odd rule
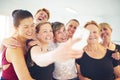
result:
[[[81,58],[83,55],[83,50],[72,49],[72,46],[80,40],[81,39],[75,39],[75,40],[69,39],[64,44],[61,44],[58,48],[55,49],[53,53],[54,60],[61,62],[68,59]]]

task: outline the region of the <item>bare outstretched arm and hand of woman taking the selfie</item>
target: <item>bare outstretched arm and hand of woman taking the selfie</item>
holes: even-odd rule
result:
[[[61,62],[70,58],[80,58],[83,51],[72,49],[73,44],[78,41],[79,39],[69,40],[55,50],[46,53],[42,53],[41,48],[35,46],[31,49],[31,58],[39,66],[47,66],[53,62]]]

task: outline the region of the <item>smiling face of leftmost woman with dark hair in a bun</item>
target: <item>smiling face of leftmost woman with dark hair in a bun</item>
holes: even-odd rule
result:
[[[31,39],[35,35],[35,26],[33,23],[33,18],[25,18],[20,21],[20,24],[17,28],[17,32],[20,36],[25,39]]]

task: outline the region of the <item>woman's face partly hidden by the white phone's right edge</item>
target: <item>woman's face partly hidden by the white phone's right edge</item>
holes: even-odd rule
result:
[[[94,24],[89,24],[86,26],[86,29],[90,31],[90,35],[88,38],[88,44],[93,44],[93,43],[98,43],[99,39],[99,29],[96,25]]]

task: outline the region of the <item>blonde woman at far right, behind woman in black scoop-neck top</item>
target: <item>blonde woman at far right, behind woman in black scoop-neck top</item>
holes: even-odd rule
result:
[[[113,54],[112,56],[119,60],[120,59],[120,45],[115,44],[111,41],[111,34],[112,34],[112,28],[108,23],[100,23],[99,24],[100,29],[100,37],[102,39],[102,42],[100,44],[106,48],[110,49],[116,52],[116,54]]]

